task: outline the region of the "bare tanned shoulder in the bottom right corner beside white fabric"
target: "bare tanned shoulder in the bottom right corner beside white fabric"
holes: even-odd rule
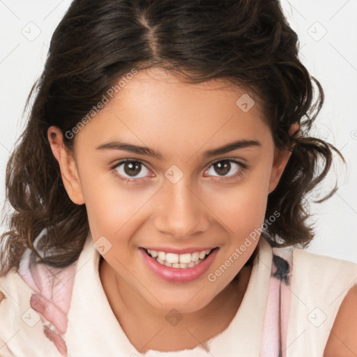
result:
[[[324,351],[324,357],[339,356],[357,356],[357,284],[340,305]]]

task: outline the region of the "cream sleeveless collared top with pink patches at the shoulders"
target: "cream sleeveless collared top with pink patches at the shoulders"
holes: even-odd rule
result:
[[[107,301],[91,234],[67,271],[29,277],[30,257],[26,250],[19,271],[0,278],[5,295],[0,357],[322,357],[340,304],[357,284],[357,264],[297,248],[272,249],[260,238],[243,301],[225,331],[205,347],[140,354]],[[65,290],[68,301],[59,296]],[[40,310],[34,294],[56,301],[57,307],[48,303],[48,310]],[[61,323],[54,317],[56,308]]]

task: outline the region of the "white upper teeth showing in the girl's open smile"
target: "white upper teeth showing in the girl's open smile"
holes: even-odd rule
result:
[[[142,248],[144,252],[146,252],[149,257],[157,261],[159,264],[163,266],[168,266],[169,268],[192,268],[202,263],[208,255],[214,250],[217,250],[218,247],[208,250],[203,250],[202,252],[192,252],[185,254],[174,254],[174,253],[165,253],[158,252],[156,250],[148,250],[146,248]]]

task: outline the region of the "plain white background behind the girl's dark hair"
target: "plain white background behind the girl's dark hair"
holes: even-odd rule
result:
[[[70,2],[0,0],[0,204],[6,162],[26,120],[26,97]],[[300,38],[301,61],[326,94],[312,135],[334,144],[347,160],[347,169],[336,165],[320,188],[327,192],[337,176],[337,194],[311,206],[316,236],[307,250],[357,263],[357,1],[284,0],[282,8]]]

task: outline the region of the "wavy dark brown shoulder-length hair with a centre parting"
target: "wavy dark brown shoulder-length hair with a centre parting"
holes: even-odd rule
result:
[[[6,199],[14,211],[1,236],[0,275],[18,267],[26,247],[38,255],[33,241],[43,229],[43,263],[61,268],[79,257],[89,233],[86,206],[68,197],[47,129],[72,130],[120,77],[151,66],[189,83],[225,79],[263,105],[278,149],[295,144],[268,195],[266,219],[275,211],[280,217],[263,235],[272,246],[307,245],[314,236],[307,193],[326,176],[332,151],[344,159],[309,136],[324,92],[299,61],[298,45],[277,0],[73,1],[54,31],[26,101],[33,98],[26,128],[8,160]],[[301,128],[289,135],[292,123]],[[75,136],[63,139],[73,152]]]

